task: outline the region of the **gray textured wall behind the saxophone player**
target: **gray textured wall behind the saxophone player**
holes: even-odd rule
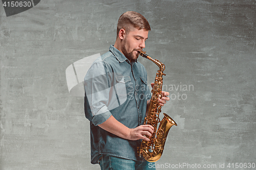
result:
[[[162,112],[178,124],[157,165],[256,163],[255,1],[42,0],[9,17],[0,7],[0,169],[99,169],[65,70],[108,51],[128,10],[151,24],[145,50],[166,65]],[[153,82],[157,66],[139,61]]]

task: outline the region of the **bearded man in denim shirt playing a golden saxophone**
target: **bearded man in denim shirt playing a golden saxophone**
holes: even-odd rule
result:
[[[151,125],[143,125],[151,92],[146,70],[137,61],[150,30],[141,14],[123,13],[114,46],[92,64],[84,78],[84,111],[91,123],[91,163],[99,163],[101,169],[153,169],[137,153],[140,139],[149,141],[145,135],[150,137],[154,132]],[[161,106],[169,100],[169,93],[162,93]]]

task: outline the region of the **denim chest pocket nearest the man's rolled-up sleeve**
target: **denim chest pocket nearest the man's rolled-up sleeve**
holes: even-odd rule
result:
[[[118,76],[116,77],[116,94],[118,96],[120,105],[124,103],[127,99],[127,91],[126,88],[128,84],[131,82],[130,76]]]

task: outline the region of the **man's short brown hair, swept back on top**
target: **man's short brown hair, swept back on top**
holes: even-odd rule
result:
[[[133,27],[139,30],[151,30],[150,24],[143,15],[139,14],[138,12],[127,11],[123,13],[118,19],[117,36],[121,29],[124,29],[128,34]]]

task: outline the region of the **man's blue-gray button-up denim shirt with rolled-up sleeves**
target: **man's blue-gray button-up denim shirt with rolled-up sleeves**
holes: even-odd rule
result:
[[[137,147],[140,140],[127,140],[98,125],[113,115],[128,128],[143,125],[146,102],[151,99],[144,66],[130,61],[113,45],[94,61],[84,77],[84,112],[90,120],[91,163],[99,154],[144,161]]]

